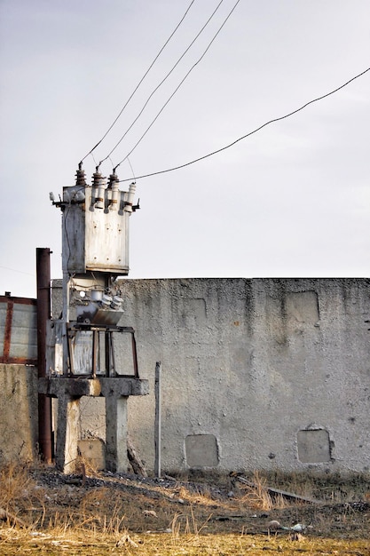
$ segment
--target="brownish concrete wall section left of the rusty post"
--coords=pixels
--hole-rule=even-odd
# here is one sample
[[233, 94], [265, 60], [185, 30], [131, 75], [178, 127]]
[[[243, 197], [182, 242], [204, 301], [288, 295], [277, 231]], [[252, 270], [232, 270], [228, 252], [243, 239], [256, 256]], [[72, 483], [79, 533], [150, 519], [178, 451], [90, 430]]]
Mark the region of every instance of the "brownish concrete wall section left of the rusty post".
[[32, 460], [38, 434], [37, 369], [0, 364], [0, 464]]

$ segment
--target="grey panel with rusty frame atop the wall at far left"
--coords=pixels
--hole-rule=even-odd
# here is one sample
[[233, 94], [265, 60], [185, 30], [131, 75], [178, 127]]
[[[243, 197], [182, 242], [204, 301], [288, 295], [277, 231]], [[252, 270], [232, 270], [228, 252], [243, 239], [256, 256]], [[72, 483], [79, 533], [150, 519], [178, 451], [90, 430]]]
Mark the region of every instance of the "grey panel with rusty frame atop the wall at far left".
[[0, 296], [0, 362], [37, 362], [37, 301]]

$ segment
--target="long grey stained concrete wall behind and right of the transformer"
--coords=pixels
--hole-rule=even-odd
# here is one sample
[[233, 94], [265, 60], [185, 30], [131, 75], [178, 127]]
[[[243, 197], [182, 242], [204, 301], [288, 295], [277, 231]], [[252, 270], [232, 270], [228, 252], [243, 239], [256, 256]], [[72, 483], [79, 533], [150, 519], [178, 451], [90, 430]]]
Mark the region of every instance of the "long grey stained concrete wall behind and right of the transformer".
[[[156, 361], [163, 469], [368, 469], [369, 280], [125, 280], [122, 287], [120, 324], [137, 331], [140, 377], [150, 381], [149, 396], [129, 401], [130, 435], [148, 469]], [[91, 428], [104, 430], [99, 403], [86, 399], [94, 415], [93, 425], [82, 423], [86, 438]]]

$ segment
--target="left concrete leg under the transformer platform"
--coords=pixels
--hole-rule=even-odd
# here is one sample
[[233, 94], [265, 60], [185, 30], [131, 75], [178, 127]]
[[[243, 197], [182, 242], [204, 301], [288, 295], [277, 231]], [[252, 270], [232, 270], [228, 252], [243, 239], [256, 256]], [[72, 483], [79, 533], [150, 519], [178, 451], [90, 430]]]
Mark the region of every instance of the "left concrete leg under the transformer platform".
[[62, 473], [74, 473], [78, 456], [80, 400], [67, 393], [58, 399], [58, 429], [55, 463]]

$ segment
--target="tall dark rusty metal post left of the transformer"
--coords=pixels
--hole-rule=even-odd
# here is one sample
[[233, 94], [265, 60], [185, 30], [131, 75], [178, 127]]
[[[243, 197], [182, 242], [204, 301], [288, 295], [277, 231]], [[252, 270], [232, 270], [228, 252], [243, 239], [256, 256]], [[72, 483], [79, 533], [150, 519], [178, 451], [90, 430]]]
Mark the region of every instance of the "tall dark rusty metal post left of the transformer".
[[[51, 275], [49, 248], [36, 249], [37, 278], [37, 369], [46, 377], [46, 323], [51, 316]], [[38, 443], [43, 461], [51, 464], [51, 398], [38, 394]]]

